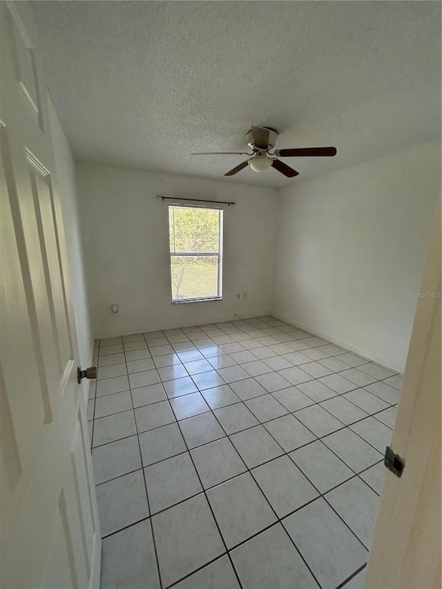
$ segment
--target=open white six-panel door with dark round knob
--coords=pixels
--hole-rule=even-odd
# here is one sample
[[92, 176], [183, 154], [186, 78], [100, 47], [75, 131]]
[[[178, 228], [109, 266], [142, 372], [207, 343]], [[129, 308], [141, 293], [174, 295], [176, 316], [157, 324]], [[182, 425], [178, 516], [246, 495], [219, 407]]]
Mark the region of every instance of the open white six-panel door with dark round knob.
[[64, 230], [26, 5], [0, 2], [0, 583], [98, 587], [101, 540]]

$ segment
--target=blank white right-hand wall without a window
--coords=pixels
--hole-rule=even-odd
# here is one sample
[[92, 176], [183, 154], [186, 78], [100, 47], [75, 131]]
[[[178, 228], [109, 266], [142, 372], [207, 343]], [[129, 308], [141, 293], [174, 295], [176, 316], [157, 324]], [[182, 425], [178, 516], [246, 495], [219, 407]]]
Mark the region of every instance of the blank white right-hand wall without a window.
[[278, 191], [273, 313], [403, 371], [440, 182], [430, 142]]

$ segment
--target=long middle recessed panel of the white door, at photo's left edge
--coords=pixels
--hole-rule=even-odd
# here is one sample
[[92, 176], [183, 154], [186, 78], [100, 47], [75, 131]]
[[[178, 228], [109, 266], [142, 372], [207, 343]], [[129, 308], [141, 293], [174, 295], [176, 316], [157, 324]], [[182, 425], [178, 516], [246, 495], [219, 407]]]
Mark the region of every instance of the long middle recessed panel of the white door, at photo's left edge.
[[[35, 461], [33, 453], [41, 443], [46, 423], [52, 421], [52, 410], [41, 366], [37, 310], [7, 134], [8, 128], [1, 127], [0, 358], [19, 461], [26, 465]], [[28, 391], [26, 397], [24, 391]], [[26, 411], [28, 404], [32, 412]]]

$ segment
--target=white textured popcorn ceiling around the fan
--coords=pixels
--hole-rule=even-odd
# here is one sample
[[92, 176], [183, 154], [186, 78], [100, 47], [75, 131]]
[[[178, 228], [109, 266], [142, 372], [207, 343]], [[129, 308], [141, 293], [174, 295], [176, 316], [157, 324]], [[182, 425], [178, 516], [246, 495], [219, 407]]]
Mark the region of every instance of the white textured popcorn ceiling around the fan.
[[[50, 95], [78, 160], [287, 186], [441, 135], [441, 3], [34, 1]], [[223, 174], [251, 124], [278, 148]]]

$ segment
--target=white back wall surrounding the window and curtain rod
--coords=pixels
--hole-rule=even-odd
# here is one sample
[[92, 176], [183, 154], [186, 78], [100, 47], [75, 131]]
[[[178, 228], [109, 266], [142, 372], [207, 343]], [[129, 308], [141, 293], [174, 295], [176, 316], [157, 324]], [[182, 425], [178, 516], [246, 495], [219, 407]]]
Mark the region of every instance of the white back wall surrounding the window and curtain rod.
[[[86, 163], [77, 164], [77, 185], [95, 337], [271, 311], [273, 189]], [[159, 194], [237, 202], [224, 207], [223, 300], [171, 305], [167, 204]], [[244, 292], [247, 300], [237, 301]]]

